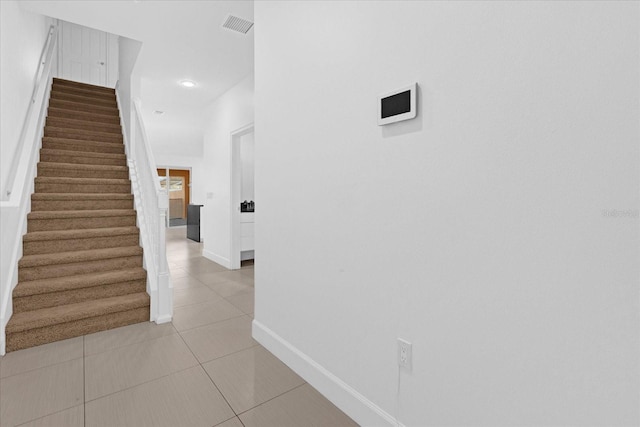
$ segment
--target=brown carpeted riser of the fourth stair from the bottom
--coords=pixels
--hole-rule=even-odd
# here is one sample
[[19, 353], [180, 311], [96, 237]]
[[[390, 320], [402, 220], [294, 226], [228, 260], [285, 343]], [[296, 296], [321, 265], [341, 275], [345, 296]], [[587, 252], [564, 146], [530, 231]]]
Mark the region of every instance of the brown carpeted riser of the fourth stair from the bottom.
[[123, 248], [140, 244], [138, 234], [94, 237], [91, 239], [44, 240], [24, 242], [23, 255], [54, 254], [59, 252], [84, 251], [91, 249]]

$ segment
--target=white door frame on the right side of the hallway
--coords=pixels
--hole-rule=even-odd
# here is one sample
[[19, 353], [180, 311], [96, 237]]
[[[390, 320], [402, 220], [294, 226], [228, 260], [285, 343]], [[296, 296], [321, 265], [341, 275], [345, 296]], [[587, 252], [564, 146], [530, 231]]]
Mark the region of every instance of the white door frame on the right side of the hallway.
[[229, 189], [229, 261], [232, 270], [240, 268], [240, 186], [242, 180], [242, 161], [240, 158], [240, 138], [254, 131], [253, 122], [231, 132], [231, 186]]

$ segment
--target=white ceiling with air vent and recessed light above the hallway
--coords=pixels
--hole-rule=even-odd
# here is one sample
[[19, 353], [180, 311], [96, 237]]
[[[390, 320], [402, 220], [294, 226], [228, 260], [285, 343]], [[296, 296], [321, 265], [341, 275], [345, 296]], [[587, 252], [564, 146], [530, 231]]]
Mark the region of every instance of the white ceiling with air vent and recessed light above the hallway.
[[[229, 14], [253, 21], [253, 1], [21, 1], [23, 9], [143, 43], [137, 67], [154, 151], [202, 154], [203, 111], [253, 72], [253, 29], [222, 28]], [[193, 80], [192, 89], [178, 84]], [[153, 114], [153, 111], [164, 114]]]

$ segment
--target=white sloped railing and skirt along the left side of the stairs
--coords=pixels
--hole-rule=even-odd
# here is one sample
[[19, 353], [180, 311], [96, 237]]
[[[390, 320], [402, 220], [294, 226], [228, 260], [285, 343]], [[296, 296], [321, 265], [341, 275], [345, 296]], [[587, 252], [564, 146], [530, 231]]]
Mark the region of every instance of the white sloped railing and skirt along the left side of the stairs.
[[58, 60], [58, 27], [51, 25], [42, 48], [34, 87], [22, 124], [5, 187], [0, 194], [0, 355], [5, 354], [5, 327], [11, 315], [12, 292], [18, 283], [22, 236], [27, 232], [36, 165], [42, 146], [51, 85]]

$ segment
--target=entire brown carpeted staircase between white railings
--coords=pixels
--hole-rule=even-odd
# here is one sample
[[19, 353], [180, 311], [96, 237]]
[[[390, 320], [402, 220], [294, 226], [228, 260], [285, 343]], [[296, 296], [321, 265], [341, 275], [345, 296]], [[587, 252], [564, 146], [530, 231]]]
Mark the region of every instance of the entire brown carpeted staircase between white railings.
[[54, 79], [7, 351], [149, 321], [113, 89]]

